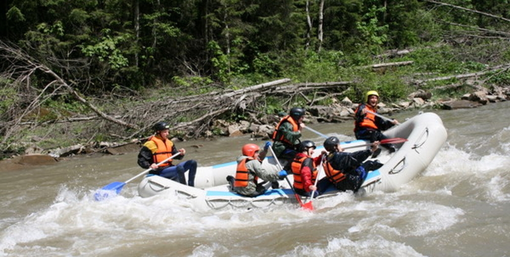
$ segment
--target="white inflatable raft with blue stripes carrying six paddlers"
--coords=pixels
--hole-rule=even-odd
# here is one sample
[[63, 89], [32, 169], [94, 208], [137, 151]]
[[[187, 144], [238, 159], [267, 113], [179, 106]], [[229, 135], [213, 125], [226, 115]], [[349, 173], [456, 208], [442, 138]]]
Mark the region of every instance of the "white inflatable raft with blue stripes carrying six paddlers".
[[[447, 133], [443, 122], [435, 113], [421, 113], [404, 123], [384, 132], [388, 137], [406, 138], [407, 141], [397, 144], [397, 151], [388, 153], [385, 148], [377, 159], [384, 163], [377, 170], [369, 172], [362, 185], [366, 192], [375, 190], [396, 191], [398, 188], [417, 177], [429, 165], [446, 141]], [[367, 141], [353, 140], [342, 142], [341, 147], [354, 152], [367, 149]], [[320, 154], [322, 146], [315, 151]], [[266, 157], [263, 165], [275, 165], [272, 157]], [[149, 175], [138, 185], [138, 193], [142, 197], [164, 193], [166, 196], [186, 199], [198, 209], [222, 209], [227, 207], [252, 208], [272, 205], [296, 204], [296, 198], [287, 182], [281, 181], [281, 188], [271, 189], [257, 197], [246, 197], [230, 191], [226, 176], [235, 176], [237, 163], [227, 162], [208, 167], [198, 167], [195, 186], [189, 187], [160, 176]], [[324, 173], [322, 173], [324, 176]], [[292, 176], [288, 177], [292, 179]], [[270, 183], [268, 183], [270, 184]], [[318, 196], [321, 198], [338, 194], [339, 191], [328, 190]]]

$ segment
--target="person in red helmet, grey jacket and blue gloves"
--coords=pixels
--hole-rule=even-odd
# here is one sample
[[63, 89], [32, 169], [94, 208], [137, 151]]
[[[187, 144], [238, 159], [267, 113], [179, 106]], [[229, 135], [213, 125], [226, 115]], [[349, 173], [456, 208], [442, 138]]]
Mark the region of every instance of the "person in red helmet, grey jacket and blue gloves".
[[259, 184], [258, 179], [275, 182], [282, 180], [287, 176], [285, 170], [279, 172], [268, 172], [262, 166], [262, 160], [259, 159], [259, 146], [255, 144], [246, 144], [242, 148], [242, 156], [237, 158], [236, 177], [227, 177], [234, 192], [254, 197], [266, 192], [267, 188]]

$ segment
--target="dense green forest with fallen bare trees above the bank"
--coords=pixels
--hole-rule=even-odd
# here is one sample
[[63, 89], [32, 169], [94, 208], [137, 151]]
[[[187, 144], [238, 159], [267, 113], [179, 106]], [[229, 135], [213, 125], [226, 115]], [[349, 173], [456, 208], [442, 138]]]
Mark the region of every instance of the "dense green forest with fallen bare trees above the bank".
[[[130, 140], [161, 119], [199, 137], [370, 89], [505, 88], [509, 28], [507, 0], [4, 0], [0, 149]], [[338, 87], [229, 93], [286, 78]]]

